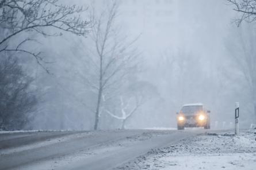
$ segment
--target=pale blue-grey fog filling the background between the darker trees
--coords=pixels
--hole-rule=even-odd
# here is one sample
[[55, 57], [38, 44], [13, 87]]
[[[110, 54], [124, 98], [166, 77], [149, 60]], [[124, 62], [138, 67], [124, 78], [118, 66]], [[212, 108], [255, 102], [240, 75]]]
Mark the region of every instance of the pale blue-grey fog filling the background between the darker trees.
[[[112, 4], [60, 2], [87, 7], [82, 13], [87, 21]], [[239, 16], [234, 6], [221, 0], [123, 0], [117, 4], [112, 32], [117, 38], [109, 44], [132, 42], [127, 51], [132, 53], [132, 66], [103, 92], [97, 129], [177, 127], [176, 113], [187, 103], [203, 103], [211, 110], [212, 128], [234, 126], [235, 102], [240, 103], [240, 126], [255, 123], [255, 91], [251, 91], [255, 84], [247, 77], [254, 69], [245, 70], [242, 60], [246, 53], [256, 52], [255, 25], [243, 22], [238, 27], [232, 22]], [[20, 57], [22, 68], [35, 78], [31, 88], [39, 99], [25, 129], [94, 129], [98, 59], [93, 57], [97, 49], [91, 28], [95, 25], [88, 26], [86, 37], [27, 32], [12, 39], [10, 43], [15, 44], [22, 37], [35, 38], [40, 43], [30, 42], [26, 48], [42, 51], [47, 61], [42, 67], [33, 57]], [[56, 32], [55, 28], [45, 30]]]

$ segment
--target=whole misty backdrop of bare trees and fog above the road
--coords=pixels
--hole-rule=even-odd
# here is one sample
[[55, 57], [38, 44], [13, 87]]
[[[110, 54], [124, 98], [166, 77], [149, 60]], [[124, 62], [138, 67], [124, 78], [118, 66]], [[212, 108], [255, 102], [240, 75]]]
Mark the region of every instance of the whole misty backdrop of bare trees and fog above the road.
[[[1, 70], [13, 65], [0, 73], [1, 100], [5, 87], [22, 88], [15, 103], [27, 103], [18, 113], [2, 101], [0, 128], [176, 127], [181, 106], [198, 102], [211, 110], [213, 128], [229, 128], [240, 102], [248, 127], [256, 120], [254, 7], [0, 0]], [[3, 125], [3, 115], [20, 116]]]

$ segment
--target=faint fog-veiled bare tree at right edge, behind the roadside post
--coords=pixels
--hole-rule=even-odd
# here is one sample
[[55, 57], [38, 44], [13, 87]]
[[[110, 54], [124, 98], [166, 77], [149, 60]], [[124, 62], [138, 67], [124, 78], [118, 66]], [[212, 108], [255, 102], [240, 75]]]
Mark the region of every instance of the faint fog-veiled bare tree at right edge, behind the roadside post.
[[[242, 73], [243, 83], [248, 90], [249, 101], [253, 105], [256, 118], [256, 33], [253, 25], [244, 25], [235, 30], [235, 36], [228, 41], [227, 49], [231, 53], [231, 59]], [[229, 76], [231, 77], [231, 76]], [[237, 81], [237, 76], [234, 81]], [[245, 94], [245, 92], [244, 92]]]

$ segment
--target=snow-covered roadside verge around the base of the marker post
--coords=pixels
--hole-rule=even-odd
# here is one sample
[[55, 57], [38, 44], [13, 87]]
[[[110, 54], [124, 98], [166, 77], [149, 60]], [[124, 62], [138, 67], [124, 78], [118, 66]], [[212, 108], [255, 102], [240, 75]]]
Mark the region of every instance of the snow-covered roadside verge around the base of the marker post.
[[256, 169], [256, 130], [205, 133], [153, 149], [116, 169]]

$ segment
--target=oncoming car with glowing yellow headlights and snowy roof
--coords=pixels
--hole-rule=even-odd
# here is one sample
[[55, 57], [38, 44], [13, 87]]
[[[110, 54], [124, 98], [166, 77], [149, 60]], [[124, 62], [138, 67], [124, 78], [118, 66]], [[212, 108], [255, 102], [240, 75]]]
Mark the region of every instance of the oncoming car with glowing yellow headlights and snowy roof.
[[211, 111], [206, 110], [202, 103], [183, 105], [177, 113], [177, 129], [184, 130], [184, 127], [204, 127], [210, 129]]

